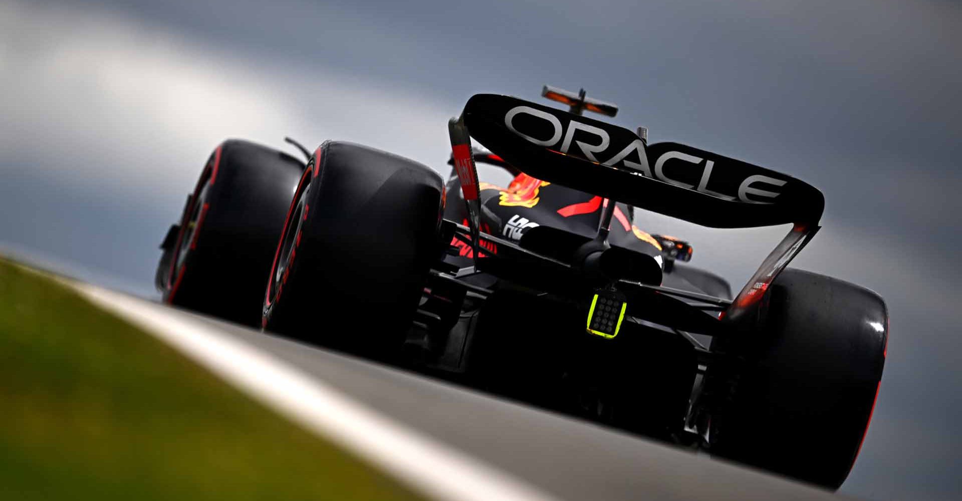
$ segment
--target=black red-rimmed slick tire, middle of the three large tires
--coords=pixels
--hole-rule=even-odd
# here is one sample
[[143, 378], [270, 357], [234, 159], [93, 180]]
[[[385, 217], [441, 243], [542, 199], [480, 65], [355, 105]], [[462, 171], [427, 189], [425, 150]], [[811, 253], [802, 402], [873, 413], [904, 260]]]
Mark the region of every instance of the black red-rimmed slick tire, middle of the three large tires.
[[267, 331], [392, 359], [439, 248], [441, 176], [348, 142], [317, 148], [294, 191], [264, 299]]

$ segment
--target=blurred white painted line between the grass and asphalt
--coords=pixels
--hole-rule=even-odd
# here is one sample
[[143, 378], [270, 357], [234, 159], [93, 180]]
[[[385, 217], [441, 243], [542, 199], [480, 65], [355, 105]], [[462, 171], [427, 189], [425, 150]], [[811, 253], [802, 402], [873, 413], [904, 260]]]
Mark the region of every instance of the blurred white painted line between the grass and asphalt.
[[71, 285], [91, 302], [161, 338], [276, 412], [428, 497], [440, 501], [557, 501], [202, 322], [103, 288]]

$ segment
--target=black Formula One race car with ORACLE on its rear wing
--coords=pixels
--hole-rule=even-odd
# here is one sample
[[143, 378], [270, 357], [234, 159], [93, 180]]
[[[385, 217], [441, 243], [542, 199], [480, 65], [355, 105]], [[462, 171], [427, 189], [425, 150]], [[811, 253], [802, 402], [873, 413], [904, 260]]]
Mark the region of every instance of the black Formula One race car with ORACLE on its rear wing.
[[[448, 124], [446, 184], [359, 144], [291, 141], [302, 163], [223, 142], [162, 245], [164, 301], [838, 488], [888, 313], [870, 290], [786, 268], [822, 193], [582, 116], [618, 111], [583, 90], [544, 96], [570, 111], [471, 97]], [[482, 183], [477, 163], [514, 181]], [[792, 227], [732, 297], [636, 211]]]

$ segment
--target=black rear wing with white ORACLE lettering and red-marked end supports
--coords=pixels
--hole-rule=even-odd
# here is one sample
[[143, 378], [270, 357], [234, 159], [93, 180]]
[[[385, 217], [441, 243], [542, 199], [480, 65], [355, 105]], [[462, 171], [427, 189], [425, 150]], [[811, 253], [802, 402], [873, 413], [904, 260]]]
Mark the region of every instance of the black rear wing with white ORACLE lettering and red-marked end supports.
[[515, 97], [472, 96], [449, 132], [475, 244], [480, 208], [470, 138], [536, 178], [702, 226], [793, 223], [725, 312], [729, 319], [764, 295], [822, 218], [822, 192], [792, 176], [675, 142], [648, 145], [627, 129]]

